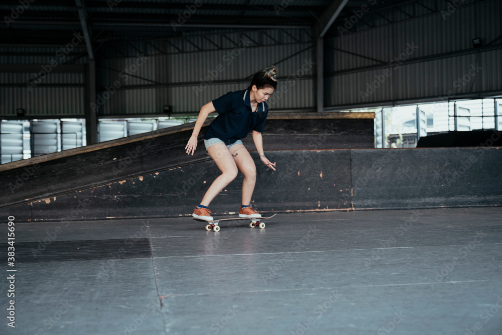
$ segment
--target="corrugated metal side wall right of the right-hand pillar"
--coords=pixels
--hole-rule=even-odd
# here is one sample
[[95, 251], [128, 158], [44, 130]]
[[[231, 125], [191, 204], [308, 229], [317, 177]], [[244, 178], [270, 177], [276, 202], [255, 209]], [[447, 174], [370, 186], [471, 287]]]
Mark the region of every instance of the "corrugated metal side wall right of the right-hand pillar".
[[[327, 40], [325, 106], [386, 105], [502, 91], [500, 17], [501, 2], [484, 1]], [[491, 49], [474, 49], [474, 38], [481, 38], [483, 46], [493, 41]], [[402, 64], [396, 62], [400, 55]]]

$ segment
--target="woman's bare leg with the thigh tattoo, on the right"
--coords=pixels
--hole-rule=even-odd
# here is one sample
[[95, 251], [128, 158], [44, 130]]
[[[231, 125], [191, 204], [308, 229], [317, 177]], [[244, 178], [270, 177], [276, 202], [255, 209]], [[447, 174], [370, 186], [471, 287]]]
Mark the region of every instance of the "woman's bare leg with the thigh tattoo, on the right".
[[250, 205], [256, 184], [255, 161], [242, 144], [231, 146], [230, 153], [237, 168], [244, 175], [244, 180], [242, 181], [242, 204]]

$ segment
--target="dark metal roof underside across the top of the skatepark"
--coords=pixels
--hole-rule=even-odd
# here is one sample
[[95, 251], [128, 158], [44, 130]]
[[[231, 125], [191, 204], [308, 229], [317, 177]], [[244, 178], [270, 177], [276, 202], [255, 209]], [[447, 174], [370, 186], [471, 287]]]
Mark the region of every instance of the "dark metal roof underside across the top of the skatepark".
[[[466, 0], [470, 2], [474, 0]], [[333, 2], [339, 3], [339, 0]], [[194, 31], [211, 33], [218, 29], [283, 29], [315, 26], [330, 6], [330, 0], [47, 0], [26, 2], [3, 0], [0, 45], [61, 44], [82, 31], [79, 14], [93, 43], [182, 37]], [[432, 0], [350, 0], [338, 22], [365, 10], [363, 19], [351, 31], [409, 18], [438, 10]], [[26, 8], [25, 8], [26, 7]], [[413, 7], [413, 8], [412, 8]], [[414, 9], [416, 7], [417, 9]], [[340, 21], [341, 20], [341, 21]], [[336, 21], [335, 21], [336, 23]], [[331, 29], [331, 35], [337, 31]]]

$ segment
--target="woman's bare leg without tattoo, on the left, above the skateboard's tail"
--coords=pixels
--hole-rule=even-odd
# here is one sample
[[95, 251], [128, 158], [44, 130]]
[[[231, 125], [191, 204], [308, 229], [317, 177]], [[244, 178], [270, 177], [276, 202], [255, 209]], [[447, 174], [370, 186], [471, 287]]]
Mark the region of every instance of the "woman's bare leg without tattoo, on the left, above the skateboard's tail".
[[216, 195], [218, 195], [218, 193], [221, 192], [226, 185], [234, 180], [239, 172], [230, 151], [223, 143], [213, 144], [207, 148], [207, 153], [214, 160], [220, 169], [221, 174], [214, 179], [211, 186], [209, 186], [209, 189], [206, 191], [206, 194], [204, 194], [204, 197], [200, 202], [200, 204], [204, 206], [209, 206], [209, 203], [211, 203]]

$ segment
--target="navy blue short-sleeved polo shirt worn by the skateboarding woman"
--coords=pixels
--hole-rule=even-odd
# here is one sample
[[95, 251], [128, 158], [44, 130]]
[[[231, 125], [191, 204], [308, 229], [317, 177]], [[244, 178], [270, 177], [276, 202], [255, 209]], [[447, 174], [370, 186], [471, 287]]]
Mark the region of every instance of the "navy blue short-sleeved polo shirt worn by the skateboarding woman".
[[205, 140], [218, 138], [228, 145], [246, 137], [252, 130], [263, 133], [269, 107], [263, 101], [257, 111], [251, 111], [247, 90], [228, 92], [212, 102], [218, 116], [207, 128]]

